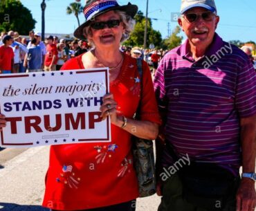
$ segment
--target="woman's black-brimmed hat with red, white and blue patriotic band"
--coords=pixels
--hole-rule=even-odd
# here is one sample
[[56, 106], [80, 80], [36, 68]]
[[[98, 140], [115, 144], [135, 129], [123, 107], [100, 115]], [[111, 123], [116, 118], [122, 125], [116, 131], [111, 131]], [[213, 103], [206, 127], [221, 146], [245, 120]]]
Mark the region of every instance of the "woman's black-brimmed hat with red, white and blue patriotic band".
[[138, 11], [138, 6], [128, 3], [125, 6], [120, 6], [116, 0], [89, 0], [86, 1], [84, 6], [84, 17], [85, 22], [79, 26], [75, 32], [75, 37], [79, 39], [84, 39], [83, 29], [85, 26], [89, 26], [91, 21], [98, 15], [102, 15], [104, 12], [109, 12], [110, 10], [120, 10], [125, 12], [132, 18], [136, 15]]

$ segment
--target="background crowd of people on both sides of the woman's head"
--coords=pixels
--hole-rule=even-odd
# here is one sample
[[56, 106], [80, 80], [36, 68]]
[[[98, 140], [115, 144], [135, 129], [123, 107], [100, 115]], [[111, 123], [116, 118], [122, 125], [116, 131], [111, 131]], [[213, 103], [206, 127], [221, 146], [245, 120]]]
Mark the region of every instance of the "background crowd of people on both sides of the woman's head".
[[[0, 36], [0, 73], [26, 73], [38, 71], [59, 71], [64, 62], [77, 57], [92, 46], [82, 39], [73, 41], [58, 39], [49, 35], [41, 40], [41, 33], [30, 31], [29, 39], [21, 37], [18, 32], [10, 30]], [[12, 50], [12, 52], [11, 52]], [[120, 46], [120, 51], [131, 57], [144, 59], [155, 73], [158, 62], [167, 51], [163, 49], [143, 49], [135, 46]]]

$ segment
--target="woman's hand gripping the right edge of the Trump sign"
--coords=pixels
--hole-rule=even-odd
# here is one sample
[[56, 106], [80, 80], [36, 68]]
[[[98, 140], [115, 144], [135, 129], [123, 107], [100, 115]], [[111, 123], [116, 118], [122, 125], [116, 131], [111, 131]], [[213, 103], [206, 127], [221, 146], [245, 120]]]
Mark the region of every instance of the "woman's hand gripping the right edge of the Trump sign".
[[118, 111], [116, 110], [117, 103], [113, 99], [113, 94], [109, 93], [107, 95], [104, 95], [103, 97], [103, 103], [100, 107], [101, 118], [102, 120], [105, 120], [107, 116], [110, 116], [111, 123], [116, 125], [118, 122]]

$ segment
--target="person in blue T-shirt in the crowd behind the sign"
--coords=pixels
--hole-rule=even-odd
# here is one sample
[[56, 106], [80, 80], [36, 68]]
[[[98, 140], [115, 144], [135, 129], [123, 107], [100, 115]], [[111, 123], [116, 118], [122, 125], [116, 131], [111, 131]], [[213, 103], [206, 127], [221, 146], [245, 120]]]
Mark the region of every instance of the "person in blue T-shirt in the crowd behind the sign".
[[28, 68], [28, 73], [42, 71], [42, 49], [37, 43], [37, 38], [34, 37], [24, 59], [24, 67]]

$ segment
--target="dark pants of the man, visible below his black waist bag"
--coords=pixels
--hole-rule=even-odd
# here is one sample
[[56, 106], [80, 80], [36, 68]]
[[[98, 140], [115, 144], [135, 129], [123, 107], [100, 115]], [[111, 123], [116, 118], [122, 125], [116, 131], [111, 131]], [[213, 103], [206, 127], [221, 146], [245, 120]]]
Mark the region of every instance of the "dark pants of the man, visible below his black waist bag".
[[[236, 210], [236, 192], [230, 193], [226, 205], [221, 211], [235, 211]], [[203, 200], [203, 199], [202, 199]], [[217, 206], [219, 204], [216, 204]], [[168, 178], [163, 185], [163, 197], [158, 211], [208, 211], [204, 208], [196, 207], [192, 203], [188, 203], [183, 198], [183, 186], [178, 174], [174, 174]]]

